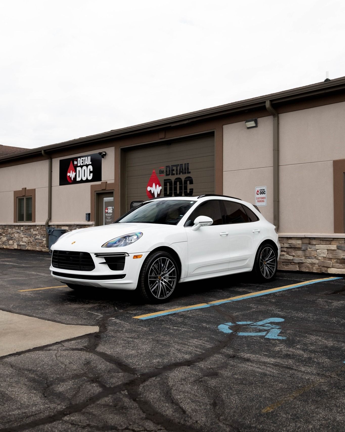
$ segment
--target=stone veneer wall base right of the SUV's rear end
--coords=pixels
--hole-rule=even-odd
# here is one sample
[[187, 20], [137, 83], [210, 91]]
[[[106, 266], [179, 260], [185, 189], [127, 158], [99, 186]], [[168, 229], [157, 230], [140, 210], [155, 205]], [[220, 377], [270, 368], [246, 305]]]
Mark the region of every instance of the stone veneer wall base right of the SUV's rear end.
[[279, 235], [279, 270], [345, 274], [345, 235], [296, 237]]

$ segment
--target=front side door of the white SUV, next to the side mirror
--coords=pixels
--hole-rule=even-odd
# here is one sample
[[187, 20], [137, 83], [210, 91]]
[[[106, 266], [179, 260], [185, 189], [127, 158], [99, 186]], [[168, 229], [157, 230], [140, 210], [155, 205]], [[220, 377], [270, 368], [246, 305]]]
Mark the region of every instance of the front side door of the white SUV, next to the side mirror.
[[[213, 224], [192, 231], [198, 216], [212, 218]], [[219, 273], [229, 269], [229, 232], [223, 225], [219, 200], [201, 203], [185, 223], [188, 240], [188, 276]]]

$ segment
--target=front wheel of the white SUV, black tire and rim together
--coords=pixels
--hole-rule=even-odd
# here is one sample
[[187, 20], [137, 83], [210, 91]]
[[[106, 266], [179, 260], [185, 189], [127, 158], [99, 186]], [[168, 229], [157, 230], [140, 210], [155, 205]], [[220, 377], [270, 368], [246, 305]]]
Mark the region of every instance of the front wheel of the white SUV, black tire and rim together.
[[173, 295], [178, 280], [176, 260], [168, 252], [153, 252], [141, 267], [136, 292], [146, 302], [165, 303]]

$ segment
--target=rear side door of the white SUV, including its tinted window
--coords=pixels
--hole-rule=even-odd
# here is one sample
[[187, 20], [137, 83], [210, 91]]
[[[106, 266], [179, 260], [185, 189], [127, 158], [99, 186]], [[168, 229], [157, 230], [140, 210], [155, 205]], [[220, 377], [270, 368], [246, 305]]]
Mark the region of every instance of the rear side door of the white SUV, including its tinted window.
[[229, 232], [229, 270], [253, 267], [262, 238], [259, 218], [247, 206], [223, 200], [226, 231]]

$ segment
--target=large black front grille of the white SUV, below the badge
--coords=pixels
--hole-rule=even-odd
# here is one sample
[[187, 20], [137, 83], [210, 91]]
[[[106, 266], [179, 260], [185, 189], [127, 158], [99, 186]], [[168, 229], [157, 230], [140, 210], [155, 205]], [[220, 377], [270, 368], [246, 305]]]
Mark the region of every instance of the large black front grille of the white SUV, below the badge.
[[51, 265], [63, 270], [94, 270], [94, 260], [88, 252], [53, 251]]

